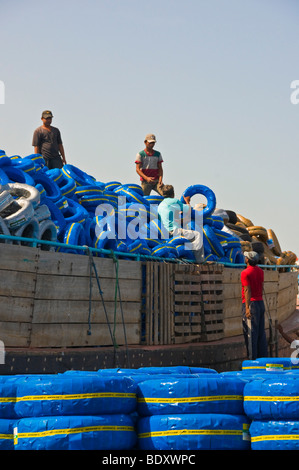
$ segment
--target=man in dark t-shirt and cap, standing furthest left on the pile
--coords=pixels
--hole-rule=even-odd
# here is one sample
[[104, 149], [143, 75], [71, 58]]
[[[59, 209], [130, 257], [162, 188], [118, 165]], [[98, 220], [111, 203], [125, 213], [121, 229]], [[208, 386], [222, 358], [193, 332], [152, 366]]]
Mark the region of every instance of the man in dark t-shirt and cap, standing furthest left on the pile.
[[52, 118], [51, 111], [43, 111], [41, 117], [43, 124], [34, 131], [32, 140], [34, 153], [43, 156], [49, 169], [62, 168], [66, 164], [60, 131], [57, 127], [51, 126]]

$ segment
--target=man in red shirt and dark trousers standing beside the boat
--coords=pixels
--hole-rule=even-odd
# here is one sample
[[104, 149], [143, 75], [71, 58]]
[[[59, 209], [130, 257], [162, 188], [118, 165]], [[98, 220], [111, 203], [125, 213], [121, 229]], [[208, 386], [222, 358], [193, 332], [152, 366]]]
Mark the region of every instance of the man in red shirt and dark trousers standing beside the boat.
[[242, 321], [248, 357], [267, 357], [265, 305], [263, 300], [264, 271], [257, 266], [259, 254], [244, 252], [246, 268], [241, 273]]

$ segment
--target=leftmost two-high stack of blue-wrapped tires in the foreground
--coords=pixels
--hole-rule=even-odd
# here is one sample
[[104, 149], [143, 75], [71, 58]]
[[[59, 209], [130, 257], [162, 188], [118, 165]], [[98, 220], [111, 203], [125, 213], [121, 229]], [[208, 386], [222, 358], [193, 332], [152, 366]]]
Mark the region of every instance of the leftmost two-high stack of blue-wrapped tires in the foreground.
[[0, 378], [0, 449], [130, 450], [136, 384], [98, 374]]

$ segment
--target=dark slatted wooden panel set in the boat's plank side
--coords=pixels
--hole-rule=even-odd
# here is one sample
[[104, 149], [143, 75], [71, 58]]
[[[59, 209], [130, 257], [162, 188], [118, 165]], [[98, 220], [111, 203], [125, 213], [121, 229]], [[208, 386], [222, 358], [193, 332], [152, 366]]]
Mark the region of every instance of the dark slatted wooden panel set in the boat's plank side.
[[222, 267], [145, 264], [145, 344], [223, 337]]

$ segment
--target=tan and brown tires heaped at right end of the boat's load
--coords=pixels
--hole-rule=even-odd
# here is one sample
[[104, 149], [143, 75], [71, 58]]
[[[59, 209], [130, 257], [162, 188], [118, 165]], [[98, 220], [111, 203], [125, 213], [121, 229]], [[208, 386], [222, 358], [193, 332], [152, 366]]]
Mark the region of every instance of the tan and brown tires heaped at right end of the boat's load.
[[254, 225], [254, 223], [234, 212], [233, 210], [220, 210], [224, 230], [239, 238], [242, 251], [256, 251], [260, 255], [260, 263], [265, 265], [294, 265], [297, 255], [292, 251], [282, 251], [279, 240], [273, 229]]

